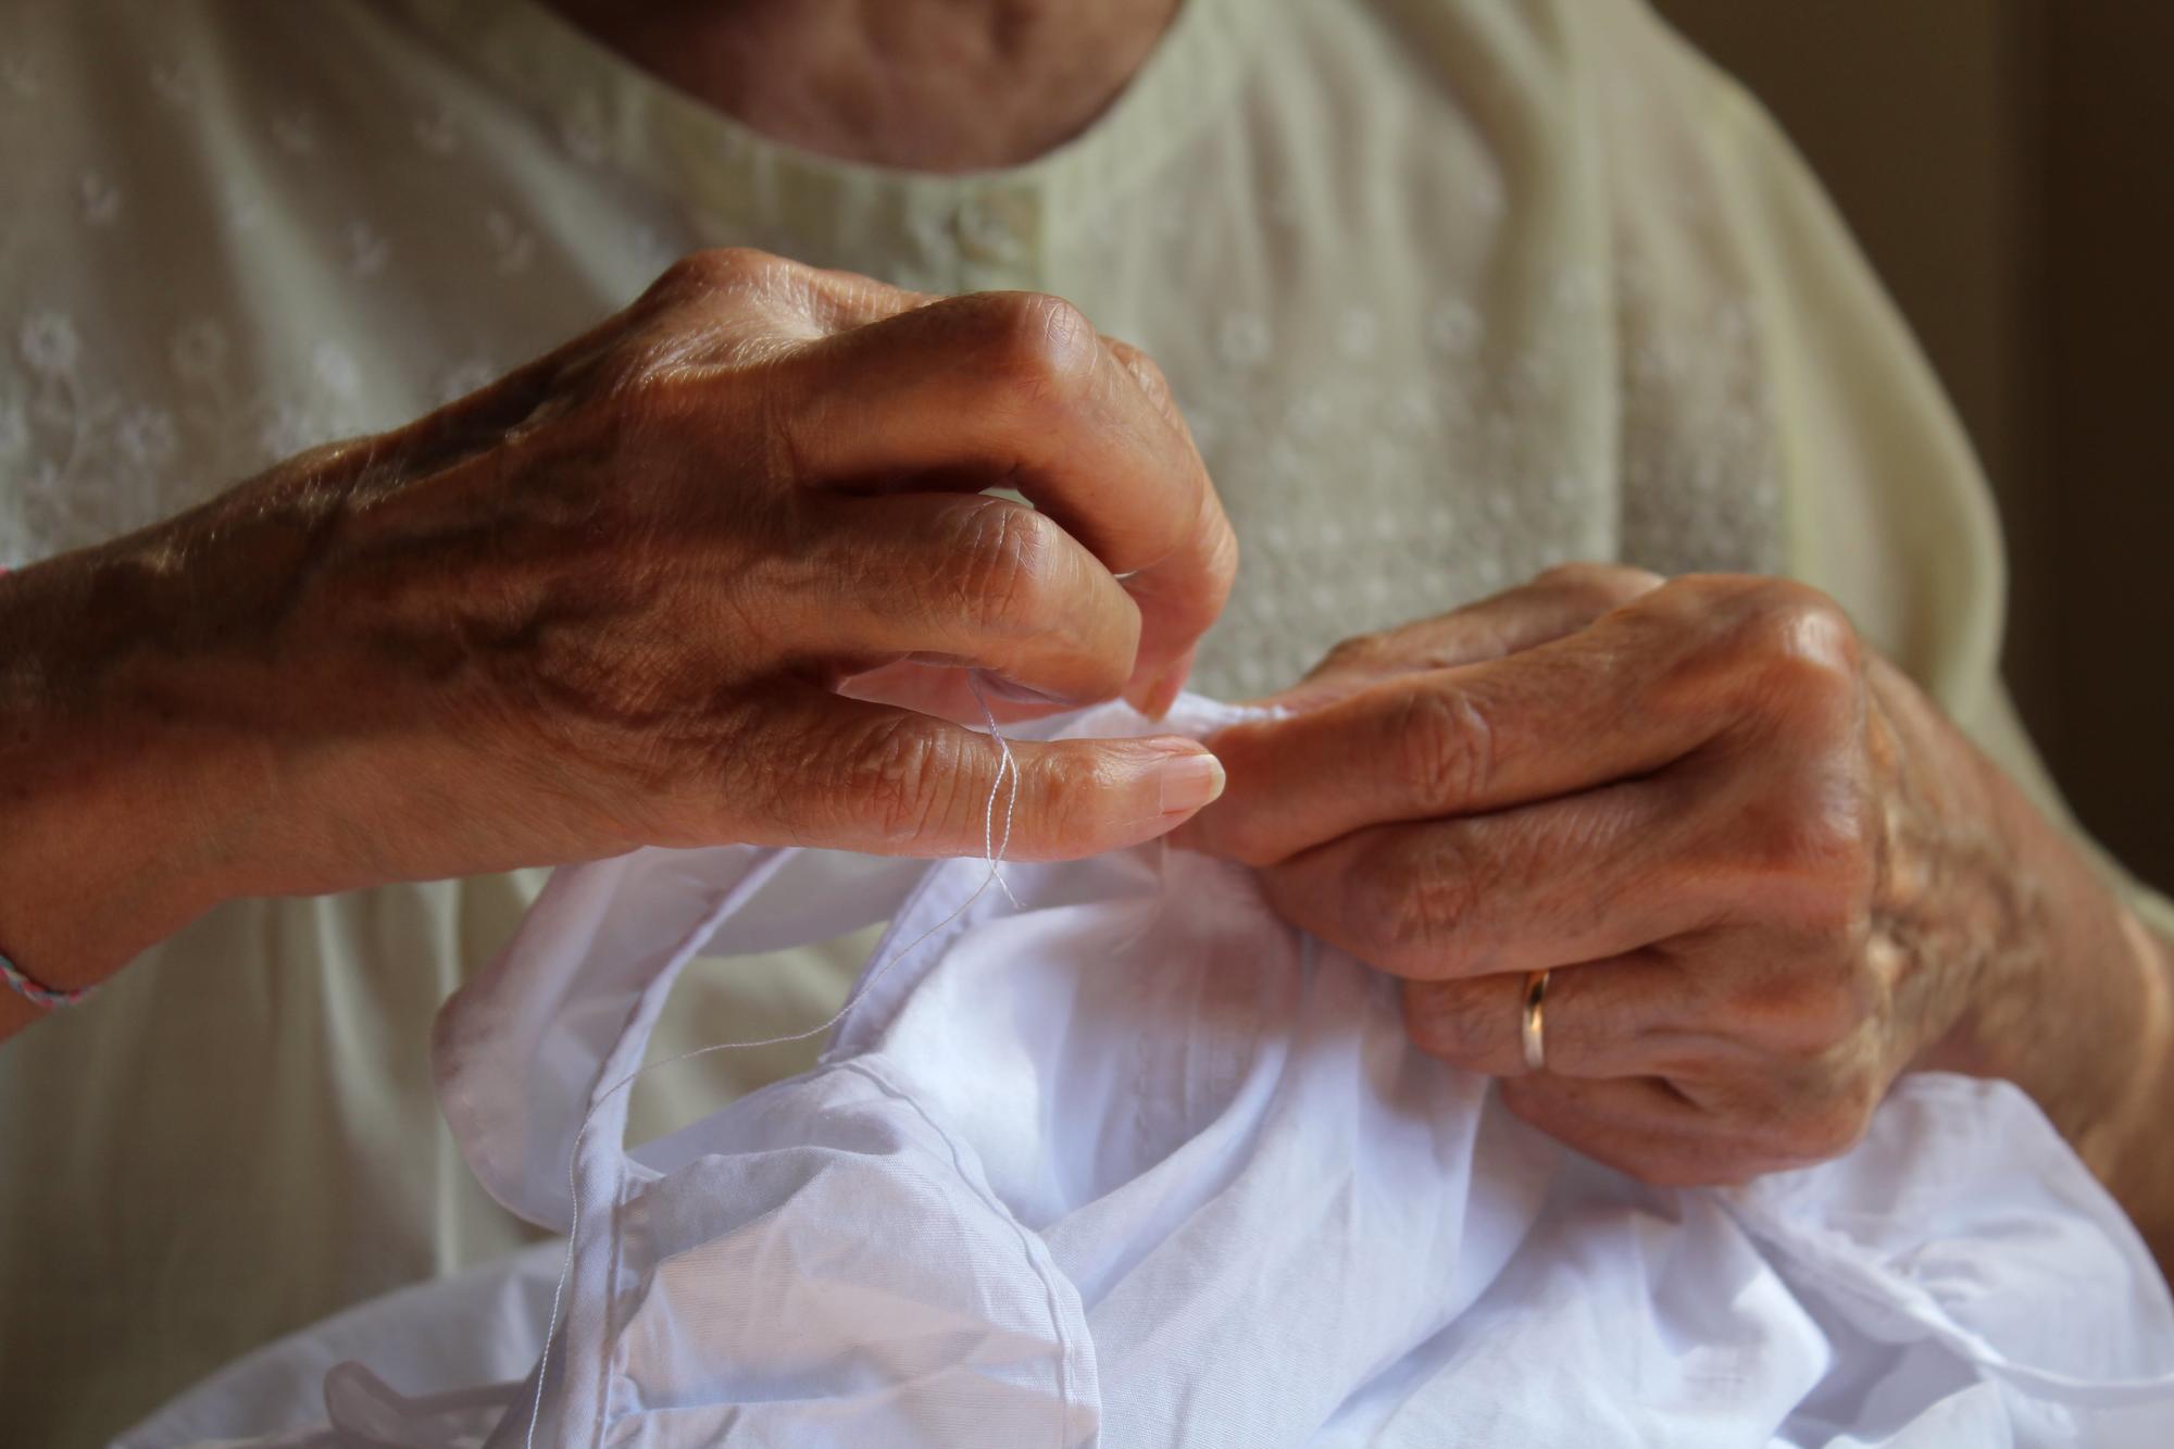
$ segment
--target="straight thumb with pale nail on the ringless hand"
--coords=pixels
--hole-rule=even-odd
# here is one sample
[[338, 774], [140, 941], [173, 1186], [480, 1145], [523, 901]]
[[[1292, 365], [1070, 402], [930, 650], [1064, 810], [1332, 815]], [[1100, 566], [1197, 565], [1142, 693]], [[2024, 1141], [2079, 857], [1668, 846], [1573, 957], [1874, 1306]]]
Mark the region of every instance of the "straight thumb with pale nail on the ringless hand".
[[[983, 855], [994, 835], [1007, 859], [1078, 859], [1163, 835], [1224, 785], [1215, 755], [1183, 735], [998, 742], [837, 694], [798, 701], [761, 733], [772, 759], [807, 761], [772, 777], [778, 833], [870, 855]], [[1007, 748], [1017, 779], [1000, 788]]]

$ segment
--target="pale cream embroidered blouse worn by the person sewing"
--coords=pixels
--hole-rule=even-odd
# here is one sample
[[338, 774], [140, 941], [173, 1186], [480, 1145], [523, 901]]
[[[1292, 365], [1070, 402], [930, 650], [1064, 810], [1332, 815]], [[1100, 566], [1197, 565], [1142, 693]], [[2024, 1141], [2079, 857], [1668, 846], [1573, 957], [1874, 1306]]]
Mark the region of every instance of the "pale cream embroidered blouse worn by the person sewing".
[[[685, 250], [761, 246], [1054, 292], [1146, 348], [1244, 555], [1211, 694], [1563, 559], [1778, 572], [2065, 822], [1937, 381], [1772, 122], [1637, 0], [1185, 0], [1080, 137], [972, 176], [780, 146], [539, 0], [0, 0], [0, 564], [402, 424]], [[539, 883], [228, 901], [0, 1049], [13, 1438], [102, 1442], [524, 1242], [424, 1040]], [[861, 957], [698, 973], [661, 1031], [820, 1020]], [[809, 1060], [707, 1057], [637, 1120]]]

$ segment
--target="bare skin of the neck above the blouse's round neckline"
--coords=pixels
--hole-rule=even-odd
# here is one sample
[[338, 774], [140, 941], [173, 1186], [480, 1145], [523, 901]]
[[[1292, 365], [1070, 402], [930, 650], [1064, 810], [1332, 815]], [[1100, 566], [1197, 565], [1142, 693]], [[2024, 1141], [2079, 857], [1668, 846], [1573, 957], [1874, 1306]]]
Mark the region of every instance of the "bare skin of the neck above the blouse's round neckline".
[[922, 172], [1017, 165], [1109, 109], [1178, 0], [548, 0], [763, 135]]

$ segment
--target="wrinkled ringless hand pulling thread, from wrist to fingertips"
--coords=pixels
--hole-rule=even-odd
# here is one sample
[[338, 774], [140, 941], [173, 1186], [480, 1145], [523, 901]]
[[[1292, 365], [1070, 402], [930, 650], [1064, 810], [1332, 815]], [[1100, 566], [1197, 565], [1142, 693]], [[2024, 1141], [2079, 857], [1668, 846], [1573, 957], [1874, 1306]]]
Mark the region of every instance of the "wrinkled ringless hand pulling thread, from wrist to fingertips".
[[[441, 740], [385, 790], [465, 735], [433, 794], [517, 835], [400, 875], [646, 842], [980, 851], [1000, 757], [937, 718], [976, 716], [957, 666], [1161, 709], [1235, 561], [1154, 366], [1072, 307], [754, 252], [687, 259], [370, 453], [296, 622], [376, 644], [357, 690], [430, 696]], [[1174, 740], [1013, 753], [1020, 855], [1204, 798], [1165, 788], [1202, 772]]]

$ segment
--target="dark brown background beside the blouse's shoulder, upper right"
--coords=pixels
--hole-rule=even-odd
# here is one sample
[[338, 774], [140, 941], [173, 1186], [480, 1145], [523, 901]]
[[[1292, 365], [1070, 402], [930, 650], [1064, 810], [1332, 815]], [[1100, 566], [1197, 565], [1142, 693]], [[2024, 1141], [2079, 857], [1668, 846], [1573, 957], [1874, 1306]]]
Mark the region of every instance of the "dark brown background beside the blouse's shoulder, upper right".
[[1757, 91], [1939, 368], [2009, 535], [2009, 683], [2174, 886], [2174, 4], [1657, 0]]

